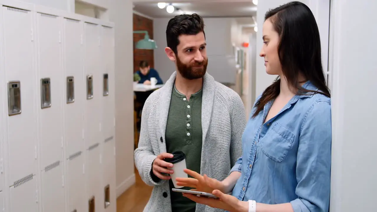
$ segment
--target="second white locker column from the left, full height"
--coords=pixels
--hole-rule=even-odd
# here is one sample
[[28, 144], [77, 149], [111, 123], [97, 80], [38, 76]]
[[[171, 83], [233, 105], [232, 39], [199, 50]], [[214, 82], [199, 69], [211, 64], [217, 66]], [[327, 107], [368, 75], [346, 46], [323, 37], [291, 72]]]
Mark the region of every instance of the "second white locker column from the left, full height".
[[61, 19], [37, 13], [42, 211], [64, 212]]

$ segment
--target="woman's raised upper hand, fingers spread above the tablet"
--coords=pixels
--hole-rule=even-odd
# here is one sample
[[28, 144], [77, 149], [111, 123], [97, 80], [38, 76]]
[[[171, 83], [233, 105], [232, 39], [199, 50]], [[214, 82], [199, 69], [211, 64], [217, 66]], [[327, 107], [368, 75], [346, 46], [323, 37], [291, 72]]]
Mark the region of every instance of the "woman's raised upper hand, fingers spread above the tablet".
[[176, 178], [178, 186], [192, 187], [195, 190], [212, 193], [213, 190], [217, 189], [221, 192], [227, 193], [225, 191], [227, 186], [222, 182], [213, 178], [209, 178], [207, 175], [200, 175], [198, 172], [194, 172], [190, 169], [184, 169], [184, 172], [193, 178]]

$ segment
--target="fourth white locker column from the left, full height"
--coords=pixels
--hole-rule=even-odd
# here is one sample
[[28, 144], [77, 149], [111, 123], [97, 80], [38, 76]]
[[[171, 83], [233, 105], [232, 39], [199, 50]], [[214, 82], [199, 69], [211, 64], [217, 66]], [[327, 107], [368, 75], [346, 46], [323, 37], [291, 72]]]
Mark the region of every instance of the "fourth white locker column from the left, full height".
[[[84, 72], [86, 77], [86, 103], [84, 137], [86, 143], [87, 200], [94, 197], [95, 211], [103, 211], [101, 194], [101, 99], [102, 78], [99, 26], [84, 23]], [[89, 199], [88, 199], [89, 198]], [[89, 211], [91, 211], [89, 209]]]

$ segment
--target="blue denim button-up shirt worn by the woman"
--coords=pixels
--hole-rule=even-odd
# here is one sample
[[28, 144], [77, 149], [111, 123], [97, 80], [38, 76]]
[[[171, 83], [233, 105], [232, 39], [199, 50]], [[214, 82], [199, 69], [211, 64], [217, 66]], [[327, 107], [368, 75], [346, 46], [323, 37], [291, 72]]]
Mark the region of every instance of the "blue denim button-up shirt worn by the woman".
[[[303, 88], [316, 91], [309, 82]], [[232, 195], [257, 203], [291, 203], [294, 212], [327, 212], [330, 199], [331, 108], [321, 94], [296, 95], [263, 124], [273, 101], [242, 135], [241, 172]], [[253, 108], [251, 115], [254, 113]]]

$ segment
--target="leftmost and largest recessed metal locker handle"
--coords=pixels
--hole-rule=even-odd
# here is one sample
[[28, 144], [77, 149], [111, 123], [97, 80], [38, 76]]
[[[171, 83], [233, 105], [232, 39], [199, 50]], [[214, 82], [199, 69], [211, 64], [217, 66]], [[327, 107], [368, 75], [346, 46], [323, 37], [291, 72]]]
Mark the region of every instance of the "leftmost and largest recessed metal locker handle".
[[21, 82], [8, 82], [8, 115], [21, 113]]

